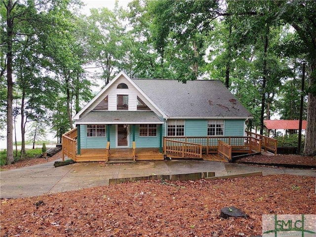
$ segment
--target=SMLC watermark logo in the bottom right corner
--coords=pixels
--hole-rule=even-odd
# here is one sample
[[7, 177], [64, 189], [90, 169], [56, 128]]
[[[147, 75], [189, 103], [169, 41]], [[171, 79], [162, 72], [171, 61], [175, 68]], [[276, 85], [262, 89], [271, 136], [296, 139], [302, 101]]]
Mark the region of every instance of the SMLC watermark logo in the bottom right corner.
[[262, 237], [316, 237], [316, 215], [263, 215]]

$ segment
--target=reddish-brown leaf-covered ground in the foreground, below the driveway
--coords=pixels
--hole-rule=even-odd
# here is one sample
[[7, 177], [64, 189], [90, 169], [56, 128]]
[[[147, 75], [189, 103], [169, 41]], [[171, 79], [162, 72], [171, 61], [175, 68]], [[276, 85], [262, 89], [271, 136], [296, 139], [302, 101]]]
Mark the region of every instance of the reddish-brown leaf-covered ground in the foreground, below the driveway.
[[[249, 215], [221, 219], [235, 206]], [[2, 199], [1, 236], [232, 237], [261, 235], [262, 214], [315, 214], [315, 177], [141, 181]]]

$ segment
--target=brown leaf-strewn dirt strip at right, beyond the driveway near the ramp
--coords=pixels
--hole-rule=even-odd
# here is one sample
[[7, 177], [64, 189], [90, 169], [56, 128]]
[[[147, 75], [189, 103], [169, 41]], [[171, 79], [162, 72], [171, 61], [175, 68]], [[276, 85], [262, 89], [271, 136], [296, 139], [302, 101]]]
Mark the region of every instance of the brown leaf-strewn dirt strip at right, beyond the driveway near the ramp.
[[249, 156], [238, 159], [238, 161], [256, 162], [265, 164], [294, 164], [316, 166], [316, 157], [303, 157], [298, 155], [276, 155], [276, 156]]

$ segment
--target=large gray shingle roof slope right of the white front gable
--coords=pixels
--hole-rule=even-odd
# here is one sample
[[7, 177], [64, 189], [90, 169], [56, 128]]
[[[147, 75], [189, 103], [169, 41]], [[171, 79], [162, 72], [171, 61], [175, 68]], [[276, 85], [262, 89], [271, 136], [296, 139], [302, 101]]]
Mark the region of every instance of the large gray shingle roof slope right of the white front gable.
[[252, 118], [220, 80], [133, 81], [169, 118]]

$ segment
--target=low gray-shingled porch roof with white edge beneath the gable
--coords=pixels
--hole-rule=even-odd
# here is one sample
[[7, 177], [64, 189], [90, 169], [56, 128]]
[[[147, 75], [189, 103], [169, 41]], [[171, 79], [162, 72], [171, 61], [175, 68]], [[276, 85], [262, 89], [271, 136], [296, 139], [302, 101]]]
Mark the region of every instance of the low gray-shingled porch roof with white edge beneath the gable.
[[90, 111], [75, 124], [162, 124], [152, 111]]

